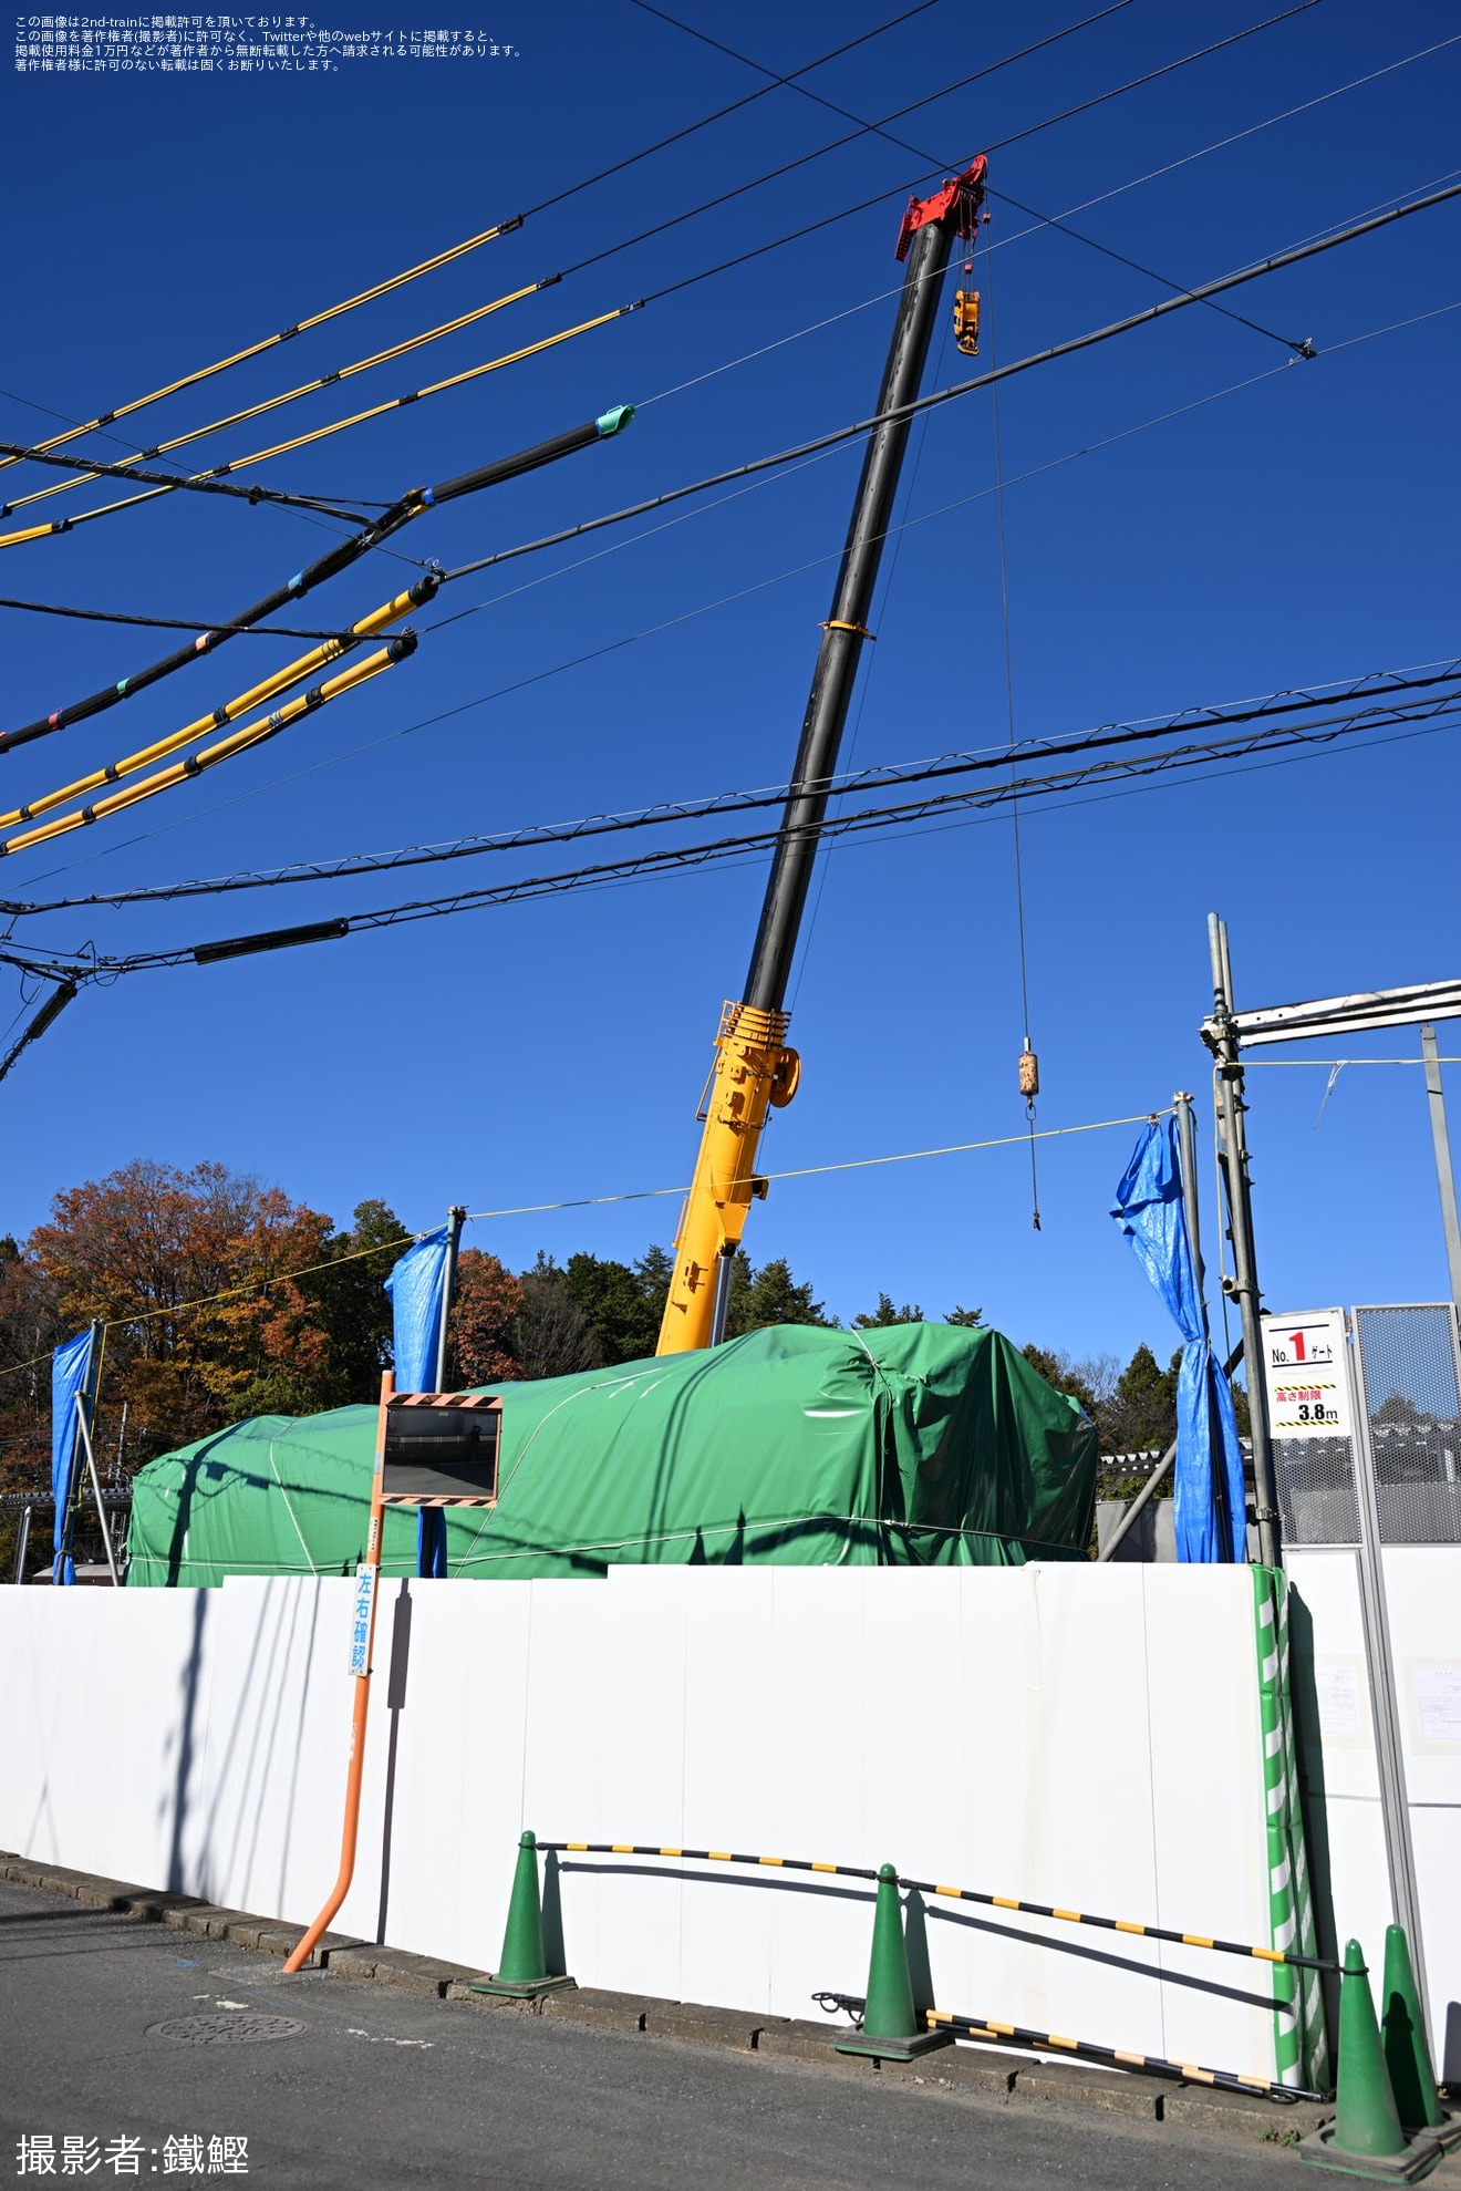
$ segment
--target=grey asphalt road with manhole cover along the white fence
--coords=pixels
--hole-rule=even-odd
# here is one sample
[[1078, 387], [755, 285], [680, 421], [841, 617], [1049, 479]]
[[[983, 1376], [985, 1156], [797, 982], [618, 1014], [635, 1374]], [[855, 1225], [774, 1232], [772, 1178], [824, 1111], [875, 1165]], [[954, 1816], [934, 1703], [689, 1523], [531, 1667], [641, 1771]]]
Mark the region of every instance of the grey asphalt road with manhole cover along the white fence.
[[[252, 2044], [149, 2035], [173, 2018], [239, 2014], [302, 2029]], [[4, 1882], [0, 2132], [0, 2178], [20, 2178], [22, 2138], [50, 2138], [57, 2182], [94, 2184], [129, 2180], [116, 2167], [125, 2138], [138, 2182], [221, 2184], [208, 2143], [245, 2138], [234, 2158], [248, 2182], [311, 2191], [1303, 2191], [1316, 2180], [1286, 2152], [1091, 2108], [881, 2090], [329, 1972], [285, 1978], [269, 1954]], [[81, 2141], [81, 2169], [64, 2167], [64, 2138]], [[223, 2156], [215, 2145], [212, 2160]]]

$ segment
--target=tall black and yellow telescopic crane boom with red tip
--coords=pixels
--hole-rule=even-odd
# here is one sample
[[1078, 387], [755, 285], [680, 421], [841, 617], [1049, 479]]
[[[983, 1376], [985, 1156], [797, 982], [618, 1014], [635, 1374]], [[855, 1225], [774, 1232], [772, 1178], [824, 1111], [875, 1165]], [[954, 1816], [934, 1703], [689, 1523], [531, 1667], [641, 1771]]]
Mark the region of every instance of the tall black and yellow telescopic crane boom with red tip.
[[[878, 414], [896, 412], [920, 392], [951, 241], [955, 234], [973, 237], [983, 204], [983, 175], [986, 160], [979, 153], [942, 191], [911, 199], [902, 215], [898, 259], [907, 261], [907, 272], [883, 368]], [[764, 1179], [756, 1177], [767, 1111], [789, 1104], [802, 1078], [802, 1060], [786, 1043], [786, 986], [848, 706], [863, 644], [872, 638], [867, 616], [909, 425], [909, 418], [889, 418], [872, 434], [863, 456], [745, 993], [721, 1012], [701, 1148], [675, 1236], [675, 1273], [657, 1354], [683, 1354], [714, 1345], [723, 1337], [732, 1258], [740, 1247], [751, 1201], [764, 1198], [767, 1192]]]

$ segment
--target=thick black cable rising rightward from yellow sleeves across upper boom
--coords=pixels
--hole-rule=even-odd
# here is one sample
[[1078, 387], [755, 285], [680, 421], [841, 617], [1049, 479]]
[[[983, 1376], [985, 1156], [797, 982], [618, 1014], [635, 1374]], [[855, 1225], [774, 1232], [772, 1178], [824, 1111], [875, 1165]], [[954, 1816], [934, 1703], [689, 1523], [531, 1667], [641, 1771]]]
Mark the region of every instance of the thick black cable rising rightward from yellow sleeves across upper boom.
[[1253, 265], [1238, 267], [1233, 274], [1222, 274], [1218, 280], [1200, 283], [1196, 289], [1185, 289], [1181, 296], [1161, 298], [1157, 305], [1146, 305], [1141, 311], [1132, 311], [1124, 320], [1111, 320], [1106, 326], [1095, 326], [1084, 335], [1071, 335], [1067, 342], [1054, 342], [1045, 351], [1032, 351], [1027, 357], [1016, 357], [1008, 366], [999, 366], [992, 372], [979, 372], [970, 381], [955, 381], [953, 388], [935, 388], [933, 394], [918, 397], [913, 403], [878, 412], [872, 418], [859, 418], [856, 425], [837, 427], [832, 434], [817, 434], [815, 440], [802, 440], [791, 449], [778, 449], [775, 456], [758, 456], [747, 464], [732, 464], [727, 471], [712, 471], [703, 480], [690, 480], [688, 486], [670, 486], [664, 495], [651, 495], [646, 502], [631, 502], [622, 511], [607, 511], [602, 517], [585, 517], [576, 526], [563, 526], [559, 532], [543, 532], [539, 539], [521, 541], [517, 548], [499, 548], [495, 554], [478, 557], [473, 563], [460, 563], [456, 570], [445, 572], [445, 576], [467, 578], [473, 572], [493, 570], [497, 563], [515, 563], [519, 557], [537, 554], [543, 548], [563, 548], [567, 541], [585, 539], [589, 532], [602, 532], [607, 526], [622, 526], [631, 517], [648, 517], [653, 511], [664, 511], [672, 502], [683, 502], [688, 495], [703, 495], [712, 486], [727, 486], [732, 480], [747, 480], [758, 471], [773, 471], [780, 464], [793, 464], [804, 456], [817, 456], [821, 449], [837, 449], [841, 443], [861, 440], [865, 434], [876, 434], [878, 427], [889, 425], [891, 421], [913, 418], [918, 412], [935, 410], [940, 403], [957, 403], [959, 397], [975, 394], [979, 388], [990, 388], [994, 381], [1008, 381], [1016, 372], [1029, 372], [1032, 368], [1049, 366], [1060, 357], [1073, 357], [1080, 351], [1095, 348], [1100, 342], [1111, 342], [1115, 335], [1128, 335], [1137, 326], [1150, 326], [1154, 320], [1165, 320], [1174, 311], [1185, 311], [1189, 305], [1203, 305], [1209, 296], [1220, 296], [1227, 289], [1240, 289], [1244, 283], [1259, 280], [1264, 274], [1277, 274], [1284, 267], [1301, 265], [1305, 259], [1316, 259], [1321, 252], [1336, 250], [1343, 243], [1354, 243], [1358, 237], [1389, 228], [1393, 221], [1404, 221], [1413, 213], [1428, 213], [1430, 206], [1443, 206], [1452, 197], [1461, 197], [1461, 182], [1443, 191], [1428, 191], [1424, 197], [1406, 199], [1406, 204], [1393, 206], [1389, 213], [1378, 213], [1371, 219], [1356, 221], [1354, 226], [1341, 228], [1330, 237], [1319, 237], [1312, 243], [1275, 252], [1270, 259], [1259, 259]]

